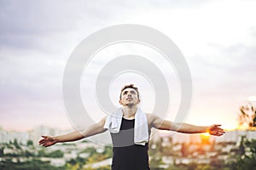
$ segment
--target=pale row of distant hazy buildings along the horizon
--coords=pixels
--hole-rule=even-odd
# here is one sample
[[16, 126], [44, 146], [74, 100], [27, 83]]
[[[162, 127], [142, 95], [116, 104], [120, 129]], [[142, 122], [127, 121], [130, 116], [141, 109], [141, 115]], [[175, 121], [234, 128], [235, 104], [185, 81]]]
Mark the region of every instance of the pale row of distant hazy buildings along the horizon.
[[[14, 141], [15, 139], [20, 144], [26, 144], [28, 140], [32, 140], [34, 144], [38, 144], [38, 140], [41, 138], [41, 135], [50, 135], [56, 136], [64, 133], [72, 132], [73, 130], [60, 130], [50, 127], [35, 127], [34, 129], [27, 132], [18, 132], [18, 131], [6, 131], [3, 128], [0, 128], [0, 143], [8, 143], [9, 141]], [[200, 143], [201, 136], [203, 134], [186, 134], [186, 133], [176, 133], [176, 132], [167, 132], [167, 131], [153, 131], [151, 136], [152, 140], [159, 138], [172, 138], [172, 143]], [[227, 131], [224, 136], [214, 137], [209, 136], [210, 141], [215, 142], [240, 142], [241, 136], [247, 136], [247, 139], [256, 139], [256, 131], [248, 130], [239, 130], [235, 129], [232, 131]]]

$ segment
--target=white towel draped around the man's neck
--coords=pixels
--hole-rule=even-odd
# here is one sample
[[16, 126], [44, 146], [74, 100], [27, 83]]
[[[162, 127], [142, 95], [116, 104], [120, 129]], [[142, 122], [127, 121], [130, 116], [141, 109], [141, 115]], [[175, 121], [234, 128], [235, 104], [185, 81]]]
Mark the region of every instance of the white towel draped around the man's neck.
[[[122, 117], [123, 111], [119, 108], [118, 111], [107, 117], [104, 128], [108, 128], [110, 133], [119, 133]], [[134, 143], [142, 145], [148, 143], [148, 119], [140, 108], [137, 108], [135, 114]]]

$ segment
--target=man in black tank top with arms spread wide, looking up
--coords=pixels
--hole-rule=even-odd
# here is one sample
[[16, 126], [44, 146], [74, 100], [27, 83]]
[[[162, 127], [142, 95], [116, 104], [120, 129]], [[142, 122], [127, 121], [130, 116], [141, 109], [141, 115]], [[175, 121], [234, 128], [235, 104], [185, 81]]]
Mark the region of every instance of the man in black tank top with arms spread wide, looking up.
[[42, 136], [39, 141], [44, 147], [62, 142], [84, 139], [103, 133], [107, 129], [113, 141], [113, 170], [148, 170], [148, 140], [151, 128], [177, 131], [178, 133], [210, 133], [215, 136], [224, 134], [220, 125], [209, 127], [195, 126], [187, 123], [170, 122], [153, 114], [145, 114], [137, 105], [140, 103], [139, 92], [133, 84], [121, 89], [119, 109], [113, 116], [102, 120], [83, 132], [73, 132], [61, 136]]

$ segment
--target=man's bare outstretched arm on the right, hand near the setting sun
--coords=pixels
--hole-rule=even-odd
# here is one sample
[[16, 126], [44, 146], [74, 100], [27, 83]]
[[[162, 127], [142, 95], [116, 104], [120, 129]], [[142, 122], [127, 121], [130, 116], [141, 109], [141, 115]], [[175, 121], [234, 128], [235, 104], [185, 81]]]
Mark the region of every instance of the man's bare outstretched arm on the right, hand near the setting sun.
[[159, 116], [152, 115], [151, 126], [160, 130], [177, 131], [178, 133], [210, 133], [215, 136], [223, 135], [224, 129], [220, 125], [213, 124], [212, 126], [195, 126], [188, 123], [170, 122], [161, 119]]

